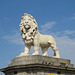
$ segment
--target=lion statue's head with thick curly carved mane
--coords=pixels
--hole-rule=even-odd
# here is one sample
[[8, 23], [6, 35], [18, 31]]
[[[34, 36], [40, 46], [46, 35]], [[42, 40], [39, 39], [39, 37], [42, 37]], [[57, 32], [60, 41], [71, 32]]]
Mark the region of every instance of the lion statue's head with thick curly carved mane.
[[20, 31], [22, 31], [22, 38], [25, 43], [31, 43], [38, 32], [37, 22], [33, 16], [24, 14], [20, 23]]

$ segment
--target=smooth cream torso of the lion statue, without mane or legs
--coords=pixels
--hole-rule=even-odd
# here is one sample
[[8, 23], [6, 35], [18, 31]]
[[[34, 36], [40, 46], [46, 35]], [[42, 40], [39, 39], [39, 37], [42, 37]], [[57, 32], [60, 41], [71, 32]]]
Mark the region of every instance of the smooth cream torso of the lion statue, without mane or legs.
[[36, 43], [35, 40], [37, 43], [39, 43], [40, 47], [50, 47], [51, 44], [56, 45], [54, 38], [50, 35], [42, 35], [42, 34], [38, 33], [34, 37], [33, 45], [34, 45], [34, 43]]

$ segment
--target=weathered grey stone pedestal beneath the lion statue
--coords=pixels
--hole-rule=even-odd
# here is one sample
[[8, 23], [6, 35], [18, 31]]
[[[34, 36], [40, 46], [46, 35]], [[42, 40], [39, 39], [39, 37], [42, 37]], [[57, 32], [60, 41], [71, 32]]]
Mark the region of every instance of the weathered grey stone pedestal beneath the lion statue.
[[75, 75], [70, 60], [40, 55], [17, 57], [0, 71], [5, 75]]

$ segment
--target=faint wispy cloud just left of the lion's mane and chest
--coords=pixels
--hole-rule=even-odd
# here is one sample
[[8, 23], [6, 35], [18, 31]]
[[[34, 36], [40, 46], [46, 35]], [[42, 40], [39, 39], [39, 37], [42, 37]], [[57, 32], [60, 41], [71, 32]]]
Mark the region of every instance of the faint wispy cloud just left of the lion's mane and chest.
[[11, 43], [15, 43], [18, 45], [24, 45], [19, 32], [14, 33], [14, 35], [5, 35], [2, 38], [10, 41]]

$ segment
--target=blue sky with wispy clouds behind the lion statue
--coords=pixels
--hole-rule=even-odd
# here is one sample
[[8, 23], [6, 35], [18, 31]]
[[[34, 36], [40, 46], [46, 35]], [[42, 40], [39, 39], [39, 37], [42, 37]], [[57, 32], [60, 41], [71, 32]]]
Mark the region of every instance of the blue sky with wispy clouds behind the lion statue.
[[[24, 13], [36, 19], [41, 34], [55, 38], [61, 58], [75, 64], [75, 0], [0, 0], [0, 68], [24, 51], [19, 30]], [[53, 56], [51, 48], [48, 53]]]

